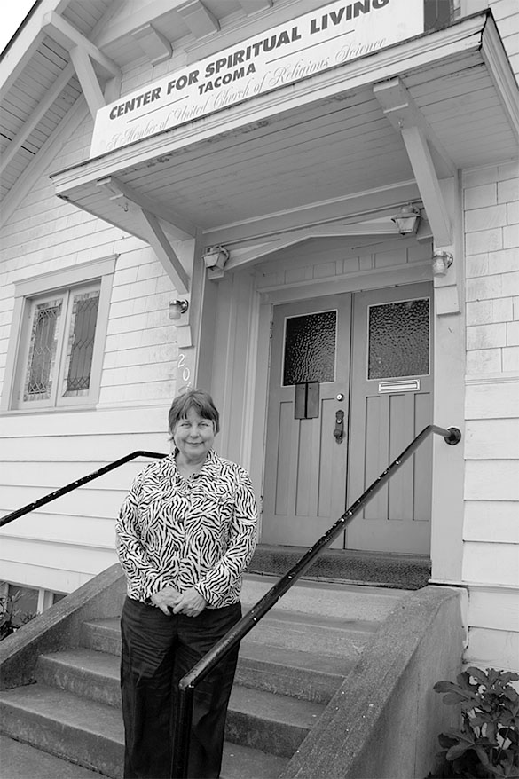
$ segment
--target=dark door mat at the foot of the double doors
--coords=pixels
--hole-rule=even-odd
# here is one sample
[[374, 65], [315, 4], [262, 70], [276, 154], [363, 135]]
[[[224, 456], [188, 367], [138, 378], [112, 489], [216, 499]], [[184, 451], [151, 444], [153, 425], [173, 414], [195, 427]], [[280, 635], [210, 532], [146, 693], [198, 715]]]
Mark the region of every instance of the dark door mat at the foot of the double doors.
[[[307, 547], [258, 544], [248, 572], [281, 577], [307, 551]], [[418, 590], [429, 584], [430, 570], [427, 556], [327, 549], [311, 564], [303, 578]]]

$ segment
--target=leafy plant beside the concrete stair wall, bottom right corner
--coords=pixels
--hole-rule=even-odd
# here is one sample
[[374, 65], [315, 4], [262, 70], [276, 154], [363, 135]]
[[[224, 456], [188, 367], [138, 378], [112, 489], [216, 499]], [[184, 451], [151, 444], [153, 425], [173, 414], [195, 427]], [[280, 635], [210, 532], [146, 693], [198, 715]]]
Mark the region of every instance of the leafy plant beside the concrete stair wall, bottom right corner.
[[460, 728], [450, 728], [438, 740], [444, 777], [519, 777], [519, 693], [511, 682], [519, 674], [468, 668], [457, 681], [438, 681], [444, 704], [459, 705]]

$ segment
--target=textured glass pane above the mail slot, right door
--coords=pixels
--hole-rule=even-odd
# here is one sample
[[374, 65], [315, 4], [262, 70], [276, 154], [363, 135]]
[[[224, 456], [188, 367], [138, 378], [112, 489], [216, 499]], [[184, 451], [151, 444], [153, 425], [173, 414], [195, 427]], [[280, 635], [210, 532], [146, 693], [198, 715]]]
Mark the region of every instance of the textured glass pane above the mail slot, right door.
[[429, 298], [370, 306], [368, 379], [429, 374]]

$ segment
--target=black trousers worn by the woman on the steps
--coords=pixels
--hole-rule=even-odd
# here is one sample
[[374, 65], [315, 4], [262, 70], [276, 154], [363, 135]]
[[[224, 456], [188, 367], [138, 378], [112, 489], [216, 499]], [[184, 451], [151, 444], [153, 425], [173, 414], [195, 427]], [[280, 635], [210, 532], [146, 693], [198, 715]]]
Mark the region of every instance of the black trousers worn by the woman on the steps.
[[[198, 617], [166, 617], [126, 598], [122, 608], [121, 690], [125, 779], [169, 779], [178, 681], [241, 617], [240, 603]], [[188, 762], [192, 779], [220, 775], [224, 727], [238, 648], [195, 689]]]

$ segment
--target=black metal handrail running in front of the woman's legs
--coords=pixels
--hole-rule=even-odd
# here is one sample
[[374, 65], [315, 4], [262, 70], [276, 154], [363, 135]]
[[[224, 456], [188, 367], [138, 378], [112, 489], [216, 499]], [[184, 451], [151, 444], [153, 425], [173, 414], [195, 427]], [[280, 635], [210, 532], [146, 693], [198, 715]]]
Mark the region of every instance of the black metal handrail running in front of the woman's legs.
[[373, 484], [370, 484], [366, 492], [364, 492], [332, 525], [332, 527], [318, 539], [314, 546], [311, 547], [297, 563], [295, 563], [293, 568], [280, 578], [279, 582], [272, 586], [268, 593], [263, 595], [263, 598], [248, 611], [245, 617], [242, 617], [240, 621], [224, 635], [224, 638], [218, 641], [213, 649], [210, 649], [196, 665], [193, 665], [191, 671], [186, 673], [178, 682], [177, 716], [175, 720], [174, 751], [171, 765], [172, 779], [185, 779], [187, 776], [195, 686], [228, 652], [231, 651], [231, 649], [236, 647], [241, 639], [243, 639], [254, 626], [257, 625], [260, 619], [263, 618], [264, 615], [271, 610], [272, 606], [279, 601], [279, 598], [286, 594], [287, 590], [295, 584], [297, 579], [303, 576], [303, 573], [310, 568], [311, 563], [314, 562], [318, 555], [344, 530], [345, 527], [347, 527], [348, 524], [350, 524], [351, 520], [358, 515], [358, 512], [362, 508], [364, 508], [368, 500], [371, 500], [374, 495], [381, 490], [391, 476], [397, 472], [398, 468], [412, 456], [413, 452], [418, 449], [431, 433], [436, 433], [436, 435], [444, 437], [445, 443], [452, 446], [458, 444], [461, 440], [461, 433], [458, 428], [445, 429], [440, 428], [437, 425], [428, 425], [424, 428], [421, 433], [414, 438], [412, 443], [405, 448], [404, 452], [402, 452], [396, 460], [393, 460], [381, 476], [375, 479]]

